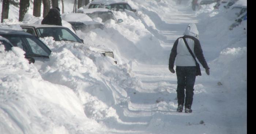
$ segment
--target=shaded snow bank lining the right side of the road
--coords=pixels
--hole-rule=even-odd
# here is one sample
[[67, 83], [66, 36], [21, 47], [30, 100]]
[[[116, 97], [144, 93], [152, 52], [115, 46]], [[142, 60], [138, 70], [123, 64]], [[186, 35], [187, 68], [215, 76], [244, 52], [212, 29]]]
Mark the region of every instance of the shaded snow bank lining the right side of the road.
[[[246, 5], [246, 0], [233, 6], [237, 5]], [[199, 10], [202, 12], [199, 17], [205, 18], [198, 23], [199, 30], [203, 31], [199, 37], [201, 43], [208, 46], [203, 50], [206, 59], [211, 60], [211, 76], [229, 90], [244, 92], [247, 91], [247, 20], [230, 31], [229, 26], [237, 19], [231, 8]]]

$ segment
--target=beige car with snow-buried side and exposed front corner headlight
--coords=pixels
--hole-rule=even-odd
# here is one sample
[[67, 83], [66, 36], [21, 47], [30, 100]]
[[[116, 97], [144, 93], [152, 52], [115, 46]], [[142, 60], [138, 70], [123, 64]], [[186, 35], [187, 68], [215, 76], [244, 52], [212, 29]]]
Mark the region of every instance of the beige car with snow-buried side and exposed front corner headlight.
[[38, 24], [19, 24], [20, 27], [25, 32], [29, 32], [38, 38], [53, 37], [55, 41], [64, 41], [66, 43], [80, 43], [87, 45], [93, 51], [102, 53], [104, 56], [110, 56], [114, 58], [112, 50], [107, 48], [101, 48], [97, 46], [91, 46], [89, 44], [84, 44], [83, 40], [80, 39], [74, 32], [69, 28], [59, 26], [59, 25], [38, 25]]

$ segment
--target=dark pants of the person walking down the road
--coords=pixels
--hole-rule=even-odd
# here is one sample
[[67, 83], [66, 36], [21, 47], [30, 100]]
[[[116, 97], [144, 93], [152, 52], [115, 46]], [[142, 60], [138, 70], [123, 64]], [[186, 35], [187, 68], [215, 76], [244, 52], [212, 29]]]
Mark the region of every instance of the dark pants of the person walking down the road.
[[[176, 74], [177, 74], [177, 99], [178, 105], [184, 105], [185, 99], [185, 107], [188, 105], [192, 105], [193, 95], [194, 95], [194, 84], [196, 80], [196, 67], [189, 66], [176, 66]], [[186, 98], [185, 98], [185, 88], [186, 88]]]

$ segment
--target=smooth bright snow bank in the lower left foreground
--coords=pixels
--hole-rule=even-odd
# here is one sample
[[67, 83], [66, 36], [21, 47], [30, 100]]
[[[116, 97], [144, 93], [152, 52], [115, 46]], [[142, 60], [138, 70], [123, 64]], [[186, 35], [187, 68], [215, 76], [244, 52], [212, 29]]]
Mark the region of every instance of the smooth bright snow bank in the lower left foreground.
[[37, 68], [24, 58], [23, 50], [13, 47], [5, 52], [0, 45], [0, 51], [1, 132], [90, 133], [100, 127], [84, 115], [75, 92], [44, 81]]

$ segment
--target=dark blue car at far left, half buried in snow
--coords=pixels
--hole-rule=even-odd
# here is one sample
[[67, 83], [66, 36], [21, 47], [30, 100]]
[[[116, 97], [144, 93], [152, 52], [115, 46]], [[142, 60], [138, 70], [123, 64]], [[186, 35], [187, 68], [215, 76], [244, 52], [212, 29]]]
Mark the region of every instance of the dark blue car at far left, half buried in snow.
[[0, 29], [0, 36], [0, 42], [5, 46], [5, 50], [11, 50], [11, 47], [21, 48], [26, 52], [25, 58], [29, 60], [29, 63], [49, 61], [52, 51], [35, 36], [12, 29]]

